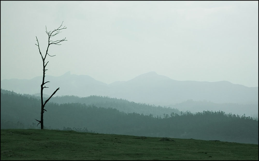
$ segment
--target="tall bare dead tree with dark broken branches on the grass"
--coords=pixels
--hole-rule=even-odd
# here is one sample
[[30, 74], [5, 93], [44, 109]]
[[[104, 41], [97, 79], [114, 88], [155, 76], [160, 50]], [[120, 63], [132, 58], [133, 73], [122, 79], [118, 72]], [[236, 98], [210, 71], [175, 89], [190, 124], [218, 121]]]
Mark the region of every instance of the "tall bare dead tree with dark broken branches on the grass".
[[[56, 41], [51, 41], [50, 40], [51, 37], [56, 36], [57, 34], [61, 33], [62, 32], [61, 30], [66, 29], [66, 26], [64, 26], [64, 27], [62, 27], [62, 26], [63, 26], [63, 22], [61, 23], [59, 28], [54, 29], [54, 31], [49, 31], [49, 32], [47, 31], [47, 26], [46, 26], [46, 33], [48, 34], [48, 47], [47, 47], [45, 55], [42, 55], [42, 53], [40, 52], [40, 45], [39, 45], [38, 38], [36, 36], [36, 40], [37, 40], [38, 45], [37, 44], [35, 44], [35, 45], [37, 45], [38, 48], [39, 48], [39, 52], [40, 52], [41, 59], [42, 59], [42, 62], [43, 62], [43, 77], [42, 77], [42, 84], [40, 85], [40, 98], [41, 98], [40, 121], [35, 119], [35, 120], [37, 120], [39, 122], [38, 125], [40, 124], [41, 129], [43, 129], [43, 113], [45, 111], [47, 111], [47, 110], [44, 109], [44, 107], [45, 107], [46, 103], [49, 101], [49, 99], [51, 99], [51, 97], [59, 90], [59, 88], [57, 88], [56, 91], [53, 92], [53, 94], [45, 101], [45, 103], [43, 103], [43, 89], [44, 88], [48, 88], [48, 87], [45, 86], [45, 84], [49, 82], [49, 81], [45, 82], [45, 80], [44, 80], [45, 79], [45, 74], [46, 74], [45, 72], [46, 72], [46, 70], [48, 70], [48, 69], [46, 69], [46, 66], [47, 66], [48, 62], [45, 64], [45, 59], [46, 59], [46, 56], [49, 55], [48, 54], [48, 49], [49, 49], [50, 45], [61, 45], [60, 43], [62, 41], [67, 41], [66, 37], [64, 39], [56, 40]], [[52, 56], [49, 55], [49, 56], [50, 57], [54, 57], [55, 55], [52, 55]]]

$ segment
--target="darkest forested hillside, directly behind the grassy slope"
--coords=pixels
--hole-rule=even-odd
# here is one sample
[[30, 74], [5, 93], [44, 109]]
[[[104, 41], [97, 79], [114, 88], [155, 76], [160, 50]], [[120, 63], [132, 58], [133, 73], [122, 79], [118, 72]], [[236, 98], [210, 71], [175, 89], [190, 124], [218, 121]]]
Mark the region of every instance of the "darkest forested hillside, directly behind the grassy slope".
[[[154, 136], [258, 144], [258, 121], [250, 117], [203, 111], [152, 117], [81, 103], [48, 102], [44, 125], [49, 129], [84, 129], [98, 133]], [[40, 100], [1, 92], [1, 128], [39, 128]]]

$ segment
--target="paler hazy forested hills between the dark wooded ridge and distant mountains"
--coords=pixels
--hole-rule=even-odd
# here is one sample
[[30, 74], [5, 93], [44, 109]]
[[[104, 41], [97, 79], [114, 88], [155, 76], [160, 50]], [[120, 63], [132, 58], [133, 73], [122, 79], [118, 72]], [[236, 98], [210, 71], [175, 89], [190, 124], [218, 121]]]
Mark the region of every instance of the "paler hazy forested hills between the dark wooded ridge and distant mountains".
[[[40, 97], [38, 97], [40, 99]], [[153, 116], [162, 116], [163, 114], [170, 115], [171, 112], [180, 114], [181, 111], [185, 113], [200, 112], [200, 111], [224, 111], [226, 113], [232, 113], [235, 115], [250, 116], [258, 119], [258, 104], [237, 104], [237, 103], [213, 103], [208, 101], [193, 101], [186, 100], [182, 103], [171, 104], [168, 106], [155, 106], [145, 103], [135, 103], [125, 99], [110, 98], [107, 96], [89, 96], [89, 97], [78, 97], [78, 96], [56, 96], [50, 101], [56, 103], [85, 103], [94, 104], [97, 107], [111, 107], [116, 108], [119, 111], [125, 113], [136, 112], [139, 114]], [[242, 109], [242, 110], [241, 110]]]

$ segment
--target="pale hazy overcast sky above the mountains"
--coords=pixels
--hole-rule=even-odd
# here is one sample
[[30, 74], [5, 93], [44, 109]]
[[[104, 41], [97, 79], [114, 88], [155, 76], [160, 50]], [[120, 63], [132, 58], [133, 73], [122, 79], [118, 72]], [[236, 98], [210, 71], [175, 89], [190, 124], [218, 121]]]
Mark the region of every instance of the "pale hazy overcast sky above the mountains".
[[155, 71], [258, 87], [258, 1], [1, 1], [1, 80], [89, 75], [110, 84]]

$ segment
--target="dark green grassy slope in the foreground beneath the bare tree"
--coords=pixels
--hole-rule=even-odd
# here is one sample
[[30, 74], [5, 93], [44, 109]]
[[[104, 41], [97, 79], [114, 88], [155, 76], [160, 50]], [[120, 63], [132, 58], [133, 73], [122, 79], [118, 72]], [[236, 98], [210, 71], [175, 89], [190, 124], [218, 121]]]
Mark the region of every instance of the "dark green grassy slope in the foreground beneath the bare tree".
[[1, 160], [258, 160], [258, 145], [59, 130], [1, 129]]

